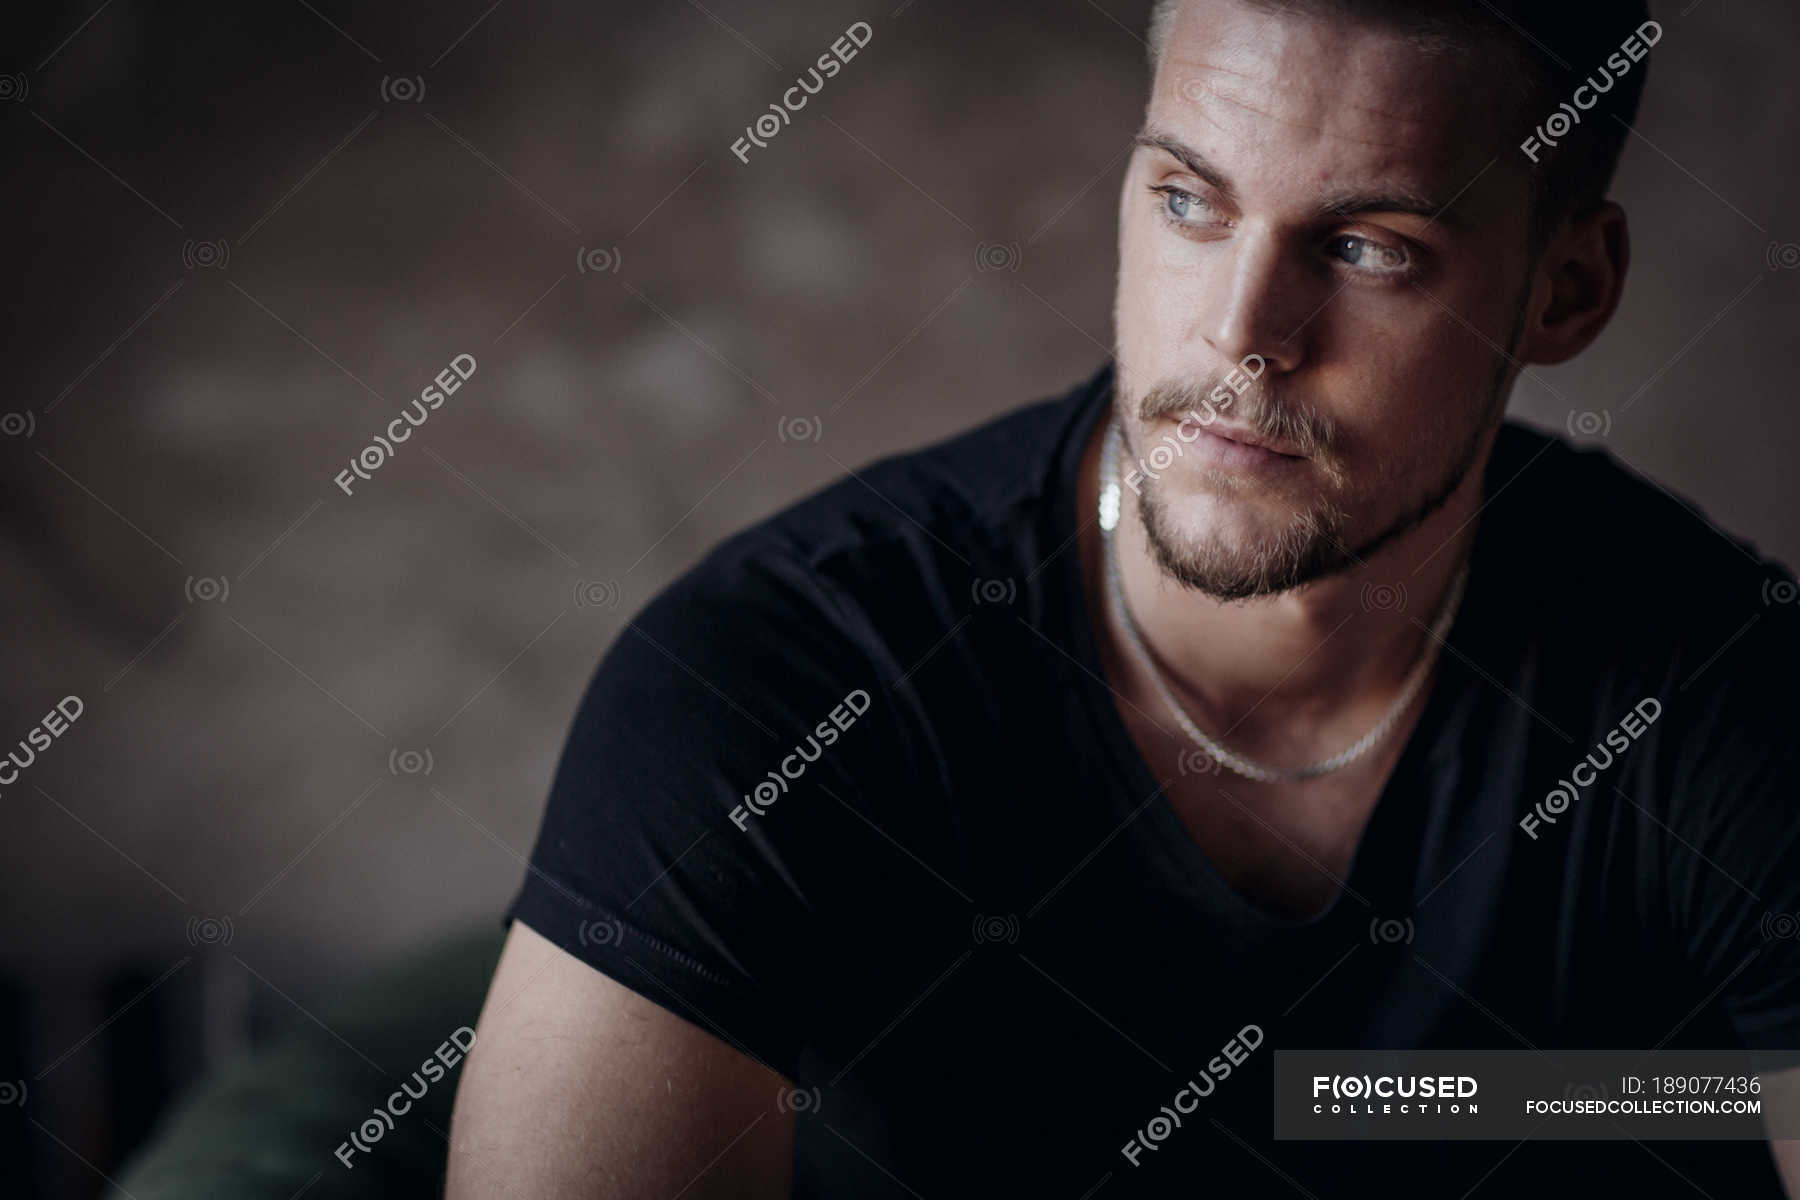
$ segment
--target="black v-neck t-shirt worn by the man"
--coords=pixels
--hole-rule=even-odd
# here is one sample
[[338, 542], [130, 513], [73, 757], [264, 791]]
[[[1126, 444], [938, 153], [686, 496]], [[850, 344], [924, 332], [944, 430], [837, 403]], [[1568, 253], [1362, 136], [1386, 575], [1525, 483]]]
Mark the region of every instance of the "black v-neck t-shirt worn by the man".
[[1508, 421], [1348, 889], [1282, 919], [1105, 685], [1075, 468], [1109, 390], [875, 462], [659, 594], [581, 700], [508, 919], [787, 1076], [797, 1196], [1780, 1196], [1751, 1141], [1274, 1141], [1271, 1061], [1800, 1049], [1793, 578]]

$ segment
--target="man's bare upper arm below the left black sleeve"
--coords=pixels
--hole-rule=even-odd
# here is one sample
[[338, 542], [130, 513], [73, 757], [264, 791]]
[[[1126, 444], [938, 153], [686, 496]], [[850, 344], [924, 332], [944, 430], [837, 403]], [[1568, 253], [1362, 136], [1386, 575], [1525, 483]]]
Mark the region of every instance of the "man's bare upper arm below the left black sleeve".
[[787, 1196], [787, 1087], [515, 921], [457, 1088], [445, 1195]]

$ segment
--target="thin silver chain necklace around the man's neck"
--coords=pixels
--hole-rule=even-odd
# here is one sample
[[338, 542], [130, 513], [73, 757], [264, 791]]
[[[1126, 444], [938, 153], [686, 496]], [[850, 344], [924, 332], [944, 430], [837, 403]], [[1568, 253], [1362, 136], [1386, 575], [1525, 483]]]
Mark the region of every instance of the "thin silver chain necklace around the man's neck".
[[1406, 684], [1400, 687], [1400, 694], [1395, 696], [1388, 712], [1370, 729], [1366, 734], [1357, 738], [1354, 743], [1339, 750], [1337, 754], [1319, 759], [1318, 763], [1309, 763], [1307, 766], [1269, 766], [1265, 763], [1255, 763], [1235, 750], [1226, 748], [1213, 738], [1208, 738], [1175, 693], [1170, 691], [1168, 682], [1163, 678], [1163, 671], [1156, 666], [1150, 651], [1143, 644], [1143, 633], [1138, 630], [1138, 621], [1130, 613], [1130, 604], [1125, 603], [1125, 588], [1120, 585], [1120, 563], [1118, 549], [1112, 545], [1112, 529], [1120, 522], [1120, 480], [1118, 480], [1118, 450], [1123, 443], [1120, 437], [1120, 428], [1116, 419], [1107, 421], [1105, 443], [1100, 448], [1100, 540], [1105, 549], [1107, 558], [1107, 592], [1112, 597], [1112, 606], [1118, 608], [1121, 622], [1125, 626], [1125, 637], [1130, 642], [1132, 653], [1138, 662], [1143, 664], [1145, 673], [1150, 676], [1150, 684], [1156, 687], [1163, 703], [1168, 711], [1175, 714], [1175, 721], [1181, 729], [1201, 747], [1215, 763], [1229, 768], [1231, 772], [1244, 775], [1247, 779], [1256, 779], [1260, 783], [1280, 783], [1280, 781], [1298, 781], [1314, 779], [1327, 772], [1334, 772], [1346, 763], [1354, 763], [1364, 754], [1368, 754], [1382, 736], [1393, 729], [1393, 723], [1406, 712], [1413, 696], [1418, 693], [1420, 685], [1426, 682], [1426, 675], [1431, 671], [1435, 660], [1433, 648], [1436, 642], [1444, 640], [1449, 633], [1451, 622], [1456, 619], [1456, 608], [1462, 604], [1463, 585], [1469, 581], [1469, 565], [1465, 563], [1458, 569], [1456, 578], [1451, 581], [1449, 592], [1444, 596], [1444, 606], [1438, 612], [1438, 619], [1431, 624], [1431, 637], [1418, 653], [1418, 662], [1413, 666], [1411, 673], [1406, 676]]

